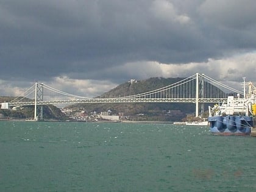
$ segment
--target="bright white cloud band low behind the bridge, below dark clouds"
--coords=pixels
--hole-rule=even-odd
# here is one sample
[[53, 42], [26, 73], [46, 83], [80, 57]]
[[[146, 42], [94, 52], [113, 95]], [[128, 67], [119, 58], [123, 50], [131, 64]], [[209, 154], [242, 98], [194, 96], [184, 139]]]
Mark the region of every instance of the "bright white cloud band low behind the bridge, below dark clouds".
[[[240, 89], [243, 77], [246, 80], [255, 81], [256, 52], [234, 55], [225, 59], [208, 59], [206, 62], [191, 63], [159, 63], [155, 61], [129, 62], [118, 67], [108, 68], [98, 76], [102, 80], [94, 79], [72, 79], [68, 76], [57, 76], [44, 80], [43, 84], [66, 93], [76, 94], [93, 98], [105, 93], [118, 84], [127, 82], [130, 79], [143, 80], [150, 77], [189, 77], [196, 73], [206, 74], [219, 82], [233, 88]], [[96, 72], [94, 75], [97, 75]], [[113, 82], [113, 79], [121, 79]], [[34, 82], [28, 85], [25, 81], [15, 82], [12, 87], [6, 80], [0, 80], [0, 93], [2, 95], [21, 95]], [[24, 87], [24, 88], [23, 88]], [[63, 98], [62, 98], [63, 99]]]

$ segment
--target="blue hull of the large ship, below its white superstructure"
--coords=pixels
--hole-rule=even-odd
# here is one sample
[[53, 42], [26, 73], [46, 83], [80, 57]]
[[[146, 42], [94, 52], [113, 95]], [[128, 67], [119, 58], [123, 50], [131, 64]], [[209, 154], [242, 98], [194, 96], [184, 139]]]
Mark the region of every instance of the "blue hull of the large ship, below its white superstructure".
[[209, 116], [210, 131], [218, 135], [249, 135], [254, 120], [251, 116]]

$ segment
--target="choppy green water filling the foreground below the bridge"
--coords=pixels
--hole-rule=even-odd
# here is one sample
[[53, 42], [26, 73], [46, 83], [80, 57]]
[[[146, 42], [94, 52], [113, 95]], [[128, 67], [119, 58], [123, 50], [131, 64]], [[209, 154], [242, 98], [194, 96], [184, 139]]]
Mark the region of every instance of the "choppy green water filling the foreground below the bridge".
[[0, 191], [256, 191], [255, 146], [200, 126], [0, 121]]

